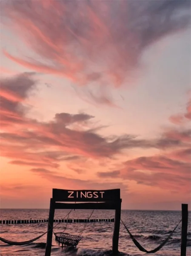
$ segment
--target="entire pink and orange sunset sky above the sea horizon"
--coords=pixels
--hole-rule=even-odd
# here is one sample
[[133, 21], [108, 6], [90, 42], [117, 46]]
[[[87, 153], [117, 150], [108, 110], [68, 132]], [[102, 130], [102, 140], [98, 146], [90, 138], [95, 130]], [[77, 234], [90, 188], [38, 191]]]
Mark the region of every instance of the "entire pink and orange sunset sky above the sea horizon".
[[120, 188], [191, 210], [191, 1], [0, 5], [0, 207]]

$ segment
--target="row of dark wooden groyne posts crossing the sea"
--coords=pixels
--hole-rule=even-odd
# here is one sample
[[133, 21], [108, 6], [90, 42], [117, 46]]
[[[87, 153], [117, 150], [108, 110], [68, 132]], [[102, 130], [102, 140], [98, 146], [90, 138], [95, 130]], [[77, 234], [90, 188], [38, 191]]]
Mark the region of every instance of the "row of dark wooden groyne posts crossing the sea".
[[[112, 219], [57, 219], [54, 222], [65, 222], [65, 223], [81, 223], [81, 222], [114, 222]], [[0, 220], [0, 224], [32, 224], [32, 223], [42, 223], [48, 222], [48, 219], [43, 220]]]

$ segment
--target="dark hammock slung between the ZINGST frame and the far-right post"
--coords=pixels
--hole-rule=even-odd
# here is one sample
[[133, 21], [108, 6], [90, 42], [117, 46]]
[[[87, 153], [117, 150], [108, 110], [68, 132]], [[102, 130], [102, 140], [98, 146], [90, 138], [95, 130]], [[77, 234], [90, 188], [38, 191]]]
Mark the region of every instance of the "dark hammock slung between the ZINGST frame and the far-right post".
[[[122, 221], [122, 219], [121, 219]], [[176, 228], [178, 227], [178, 225], [180, 224], [182, 220], [179, 221], [179, 223], [177, 224], [177, 226], [174, 228], [174, 230], [171, 231], [171, 233], [167, 236], [167, 238], [162, 242], [162, 244], [160, 244], [157, 248], [155, 248], [154, 250], [146, 250], [145, 248], [143, 248], [143, 246], [134, 238], [134, 236], [131, 234], [131, 232], [128, 230], [128, 228], [125, 226], [124, 222], [122, 221], [125, 229], [127, 230], [127, 232], [129, 233], [131, 239], [133, 240], [134, 244], [137, 246], [137, 248], [144, 252], [144, 253], [156, 253], [158, 250], [160, 250], [170, 239], [170, 237], [172, 236], [172, 234], [174, 233], [174, 231], [176, 230]]]

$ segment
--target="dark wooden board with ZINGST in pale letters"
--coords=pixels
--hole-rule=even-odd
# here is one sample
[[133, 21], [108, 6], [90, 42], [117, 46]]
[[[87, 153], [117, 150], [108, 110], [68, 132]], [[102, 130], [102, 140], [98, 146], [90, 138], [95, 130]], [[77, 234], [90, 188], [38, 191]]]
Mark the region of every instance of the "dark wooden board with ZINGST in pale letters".
[[120, 189], [66, 190], [53, 189], [52, 198], [57, 202], [104, 202], [120, 200]]

